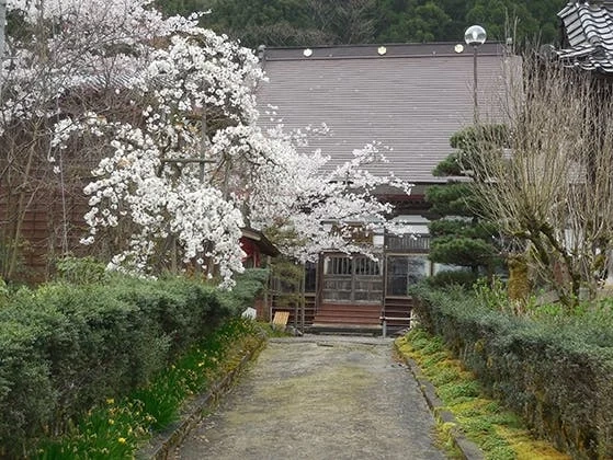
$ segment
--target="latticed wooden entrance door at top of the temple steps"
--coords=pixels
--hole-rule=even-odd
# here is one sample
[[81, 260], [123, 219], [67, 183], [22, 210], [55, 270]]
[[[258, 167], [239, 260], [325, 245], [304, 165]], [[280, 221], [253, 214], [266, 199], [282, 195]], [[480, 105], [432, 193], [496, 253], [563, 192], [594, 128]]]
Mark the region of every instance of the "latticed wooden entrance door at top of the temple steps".
[[378, 261], [364, 255], [326, 254], [323, 303], [381, 304], [383, 273]]

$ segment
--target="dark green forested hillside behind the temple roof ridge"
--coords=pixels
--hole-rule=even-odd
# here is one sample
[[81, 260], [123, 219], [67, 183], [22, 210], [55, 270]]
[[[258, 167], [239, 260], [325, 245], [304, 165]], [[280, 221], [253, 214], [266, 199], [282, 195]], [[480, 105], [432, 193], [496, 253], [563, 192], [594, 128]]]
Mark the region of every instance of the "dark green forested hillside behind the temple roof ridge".
[[557, 45], [565, 0], [158, 0], [167, 13], [207, 11], [202, 24], [243, 46], [458, 42], [472, 24], [488, 39]]

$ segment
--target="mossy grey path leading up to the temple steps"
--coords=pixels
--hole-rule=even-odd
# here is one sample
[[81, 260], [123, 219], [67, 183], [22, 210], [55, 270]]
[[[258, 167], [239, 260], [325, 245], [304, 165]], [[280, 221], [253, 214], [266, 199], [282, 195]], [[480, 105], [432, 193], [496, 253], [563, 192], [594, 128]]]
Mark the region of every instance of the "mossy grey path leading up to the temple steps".
[[390, 340], [272, 340], [175, 459], [444, 459], [433, 426]]

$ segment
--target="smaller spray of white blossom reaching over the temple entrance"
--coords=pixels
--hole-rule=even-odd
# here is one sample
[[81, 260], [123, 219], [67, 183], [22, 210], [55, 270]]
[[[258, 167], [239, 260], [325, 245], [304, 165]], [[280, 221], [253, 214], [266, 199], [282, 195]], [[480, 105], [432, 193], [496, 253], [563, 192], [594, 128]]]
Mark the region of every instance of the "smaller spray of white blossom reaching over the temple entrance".
[[355, 150], [352, 161], [330, 168], [330, 157], [305, 149], [308, 131], [284, 135], [275, 128], [269, 136], [277, 139], [276, 161], [259, 170], [262, 180], [249, 194], [250, 215], [256, 227], [275, 235], [284, 254], [302, 263], [316, 261], [326, 250], [374, 257], [372, 246], [353, 238], [355, 232], [407, 230], [389, 221], [393, 206], [377, 199], [377, 192], [391, 186], [409, 194], [411, 185], [391, 173], [368, 172], [370, 165], [387, 161], [385, 146], [372, 142]]

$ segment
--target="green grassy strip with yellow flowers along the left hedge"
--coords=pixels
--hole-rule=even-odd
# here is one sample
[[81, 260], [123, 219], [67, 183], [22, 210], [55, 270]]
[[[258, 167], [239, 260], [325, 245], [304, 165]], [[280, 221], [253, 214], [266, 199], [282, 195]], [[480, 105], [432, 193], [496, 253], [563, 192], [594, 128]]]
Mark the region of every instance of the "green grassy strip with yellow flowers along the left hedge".
[[185, 401], [203, 393], [217, 378], [235, 368], [247, 349], [260, 343], [260, 330], [235, 320], [209, 334], [197, 346], [160, 372], [145, 388], [93, 407], [69, 434], [46, 439], [37, 450], [42, 460], [132, 459], [156, 432], [180, 416]]

